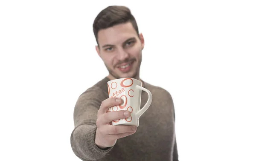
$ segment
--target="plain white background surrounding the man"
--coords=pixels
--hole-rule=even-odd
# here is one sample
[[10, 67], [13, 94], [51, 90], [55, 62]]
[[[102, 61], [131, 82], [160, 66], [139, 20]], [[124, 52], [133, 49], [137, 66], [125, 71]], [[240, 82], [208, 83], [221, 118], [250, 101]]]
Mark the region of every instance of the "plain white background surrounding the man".
[[173, 97], [180, 161], [256, 161], [253, 0], [2, 0], [0, 160], [79, 161], [73, 108], [108, 75], [92, 24], [110, 5], [144, 35], [141, 78]]

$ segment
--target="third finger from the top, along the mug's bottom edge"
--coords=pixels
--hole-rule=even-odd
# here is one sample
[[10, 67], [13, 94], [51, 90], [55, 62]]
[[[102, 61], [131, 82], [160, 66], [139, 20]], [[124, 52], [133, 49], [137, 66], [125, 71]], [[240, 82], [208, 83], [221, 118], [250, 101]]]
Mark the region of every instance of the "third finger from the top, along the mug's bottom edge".
[[127, 126], [127, 125], [118, 125], [118, 126], [105, 126], [107, 134], [122, 134], [127, 132], [136, 132], [137, 126]]

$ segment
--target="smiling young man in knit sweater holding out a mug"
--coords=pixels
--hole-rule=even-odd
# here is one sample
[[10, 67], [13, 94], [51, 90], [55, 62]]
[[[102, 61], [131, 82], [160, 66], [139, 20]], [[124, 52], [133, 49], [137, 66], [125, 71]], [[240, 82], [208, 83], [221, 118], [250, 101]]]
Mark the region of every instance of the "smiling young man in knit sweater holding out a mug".
[[[140, 79], [144, 38], [134, 16], [125, 6], [109, 6], [93, 23], [96, 51], [109, 75], [80, 95], [74, 109], [73, 152], [83, 161], [178, 161], [175, 111], [165, 89]], [[129, 111], [108, 112], [122, 99], [108, 98], [109, 80], [135, 78], [143, 82], [153, 100], [140, 117], [140, 126], [111, 122], [130, 116]], [[142, 92], [141, 106], [148, 99]]]

